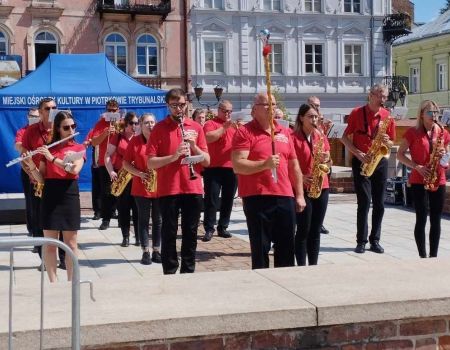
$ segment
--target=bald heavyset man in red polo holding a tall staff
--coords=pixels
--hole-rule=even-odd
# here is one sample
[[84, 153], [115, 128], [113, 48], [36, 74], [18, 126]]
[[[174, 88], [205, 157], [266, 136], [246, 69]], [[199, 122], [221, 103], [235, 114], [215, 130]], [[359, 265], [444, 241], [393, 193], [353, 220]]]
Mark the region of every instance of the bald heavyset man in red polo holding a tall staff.
[[267, 94], [256, 95], [253, 120], [236, 131], [231, 153], [247, 219], [252, 269], [269, 267], [271, 242], [275, 246], [274, 266], [294, 266], [295, 212], [306, 206], [290, 130], [275, 121], [272, 140], [268, 101]]

